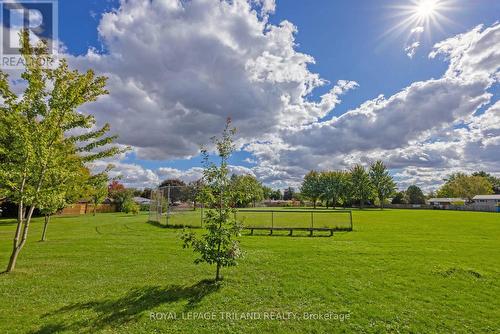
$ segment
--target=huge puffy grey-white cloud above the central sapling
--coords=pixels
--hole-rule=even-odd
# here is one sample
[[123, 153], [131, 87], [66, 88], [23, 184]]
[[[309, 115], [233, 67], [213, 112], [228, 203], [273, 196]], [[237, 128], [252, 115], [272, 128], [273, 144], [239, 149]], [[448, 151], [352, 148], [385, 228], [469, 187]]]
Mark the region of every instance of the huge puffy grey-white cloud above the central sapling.
[[329, 83], [295, 50], [296, 27], [267, 21], [274, 8], [269, 0], [121, 2], [99, 24], [108, 52], [70, 57], [109, 77], [110, 95], [86, 110], [138, 157], [157, 160], [196, 155], [228, 116], [240, 143], [317, 121], [356, 83], [339, 81], [311, 101]]

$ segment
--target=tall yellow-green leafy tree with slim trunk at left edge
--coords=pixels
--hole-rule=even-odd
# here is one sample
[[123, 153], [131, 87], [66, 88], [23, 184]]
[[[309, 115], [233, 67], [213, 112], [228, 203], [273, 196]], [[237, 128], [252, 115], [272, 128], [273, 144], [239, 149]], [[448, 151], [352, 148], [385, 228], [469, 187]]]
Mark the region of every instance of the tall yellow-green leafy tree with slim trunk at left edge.
[[47, 178], [66, 168], [67, 159], [75, 156], [90, 162], [120, 152], [116, 147], [106, 148], [115, 139], [106, 136], [109, 125], [91, 130], [94, 117], [77, 111], [107, 94], [106, 78], [90, 70], [72, 71], [64, 59], [56, 66], [45, 45], [30, 45], [27, 31], [21, 34], [21, 46], [26, 64], [21, 75], [24, 92], [14, 93], [8, 75], [0, 72], [0, 184], [18, 205], [7, 272], [14, 270], [26, 244], [35, 208], [44, 206], [41, 194]]

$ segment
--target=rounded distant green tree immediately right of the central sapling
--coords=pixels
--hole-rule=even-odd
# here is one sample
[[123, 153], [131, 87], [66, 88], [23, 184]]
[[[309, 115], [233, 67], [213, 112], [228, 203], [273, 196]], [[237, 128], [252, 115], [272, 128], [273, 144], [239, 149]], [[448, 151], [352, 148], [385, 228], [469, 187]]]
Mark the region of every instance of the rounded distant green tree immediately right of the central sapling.
[[252, 175], [232, 175], [229, 185], [234, 195], [232, 199], [233, 206], [246, 207], [249, 204], [262, 201], [264, 192], [262, 184]]

